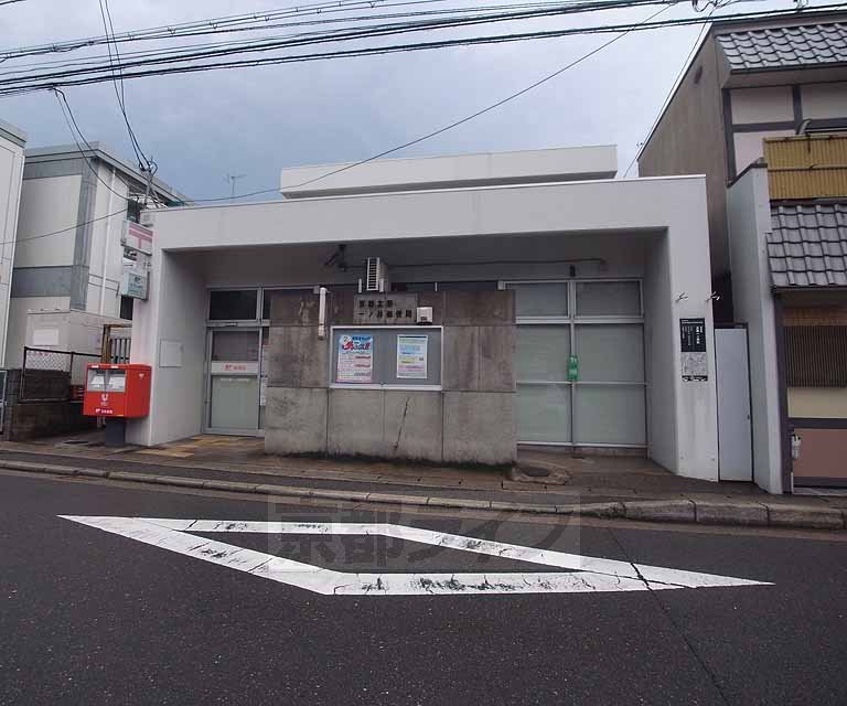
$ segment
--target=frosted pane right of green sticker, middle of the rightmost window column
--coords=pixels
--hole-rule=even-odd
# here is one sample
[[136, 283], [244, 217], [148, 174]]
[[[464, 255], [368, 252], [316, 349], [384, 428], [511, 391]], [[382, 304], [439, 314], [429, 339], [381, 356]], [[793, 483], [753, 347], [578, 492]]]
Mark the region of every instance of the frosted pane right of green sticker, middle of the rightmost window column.
[[644, 331], [640, 323], [577, 327], [575, 342], [580, 381], [644, 382]]

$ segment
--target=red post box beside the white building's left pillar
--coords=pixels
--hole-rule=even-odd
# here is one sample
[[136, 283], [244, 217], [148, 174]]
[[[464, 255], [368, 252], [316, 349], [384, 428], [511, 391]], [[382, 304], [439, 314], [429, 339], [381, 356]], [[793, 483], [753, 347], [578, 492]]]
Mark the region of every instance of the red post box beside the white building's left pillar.
[[94, 363], [85, 378], [83, 414], [89, 417], [147, 417], [150, 414], [149, 365]]

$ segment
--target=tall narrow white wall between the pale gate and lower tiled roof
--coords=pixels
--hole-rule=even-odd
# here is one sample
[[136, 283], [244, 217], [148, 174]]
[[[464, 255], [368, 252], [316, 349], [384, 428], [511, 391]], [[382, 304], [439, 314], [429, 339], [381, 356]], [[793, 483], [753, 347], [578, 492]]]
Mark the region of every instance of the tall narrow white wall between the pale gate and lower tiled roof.
[[768, 171], [753, 168], [728, 191], [727, 213], [736, 319], [748, 324], [753, 422], [753, 478], [781, 493], [779, 375], [771, 274], [765, 235], [771, 229]]

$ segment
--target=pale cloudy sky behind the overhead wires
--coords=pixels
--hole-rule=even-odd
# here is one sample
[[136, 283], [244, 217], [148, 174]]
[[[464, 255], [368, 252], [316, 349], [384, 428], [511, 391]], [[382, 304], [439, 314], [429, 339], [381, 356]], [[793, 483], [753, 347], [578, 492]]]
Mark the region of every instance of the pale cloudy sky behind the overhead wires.
[[[294, 3], [110, 0], [110, 7], [115, 30], [121, 32]], [[725, 12], [792, 7], [789, 0], [768, 0], [736, 4]], [[641, 21], [655, 11], [642, 7], [534, 20], [495, 31]], [[690, 3], [680, 3], [663, 17], [693, 14]], [[623, 170], [699, 29], [629, 34], [527, 95], [396, 156], [615, 143]], [[452, 31], [452, 35], [482, 32], [492, 29]], [[97, 0], [24, 0], [0, 7], [2, 49], [98, 34], [103, 24]], [[448, 34], [420, 39], [442, 35]], [[140, 78], [126, 82], [127, 109], [142, 149], [159, 164], [161, 179], [192, 197], [222, 196], [229, 193], [227, 173], [245, 174], [237, 183], [239, 192], [271, 189], [281, 167], [358, 160], [430, 132], [534, 83], [610, 36]], [[89, 141], [132, 154], [110, 84], [72, 87], [66, 95]], [[71, 142], [52, 94], [0, 97], [0, 118], [23, 128], [30, 146]]]

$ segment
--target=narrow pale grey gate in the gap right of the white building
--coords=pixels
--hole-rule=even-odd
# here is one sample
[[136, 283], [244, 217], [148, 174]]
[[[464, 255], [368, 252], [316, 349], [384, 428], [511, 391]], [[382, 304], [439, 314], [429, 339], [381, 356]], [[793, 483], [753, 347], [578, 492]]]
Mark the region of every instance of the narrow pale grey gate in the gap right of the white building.
[[718, 388], [718, 477], [753, 480], [750, 359], [747, 327], [715, 327]]

